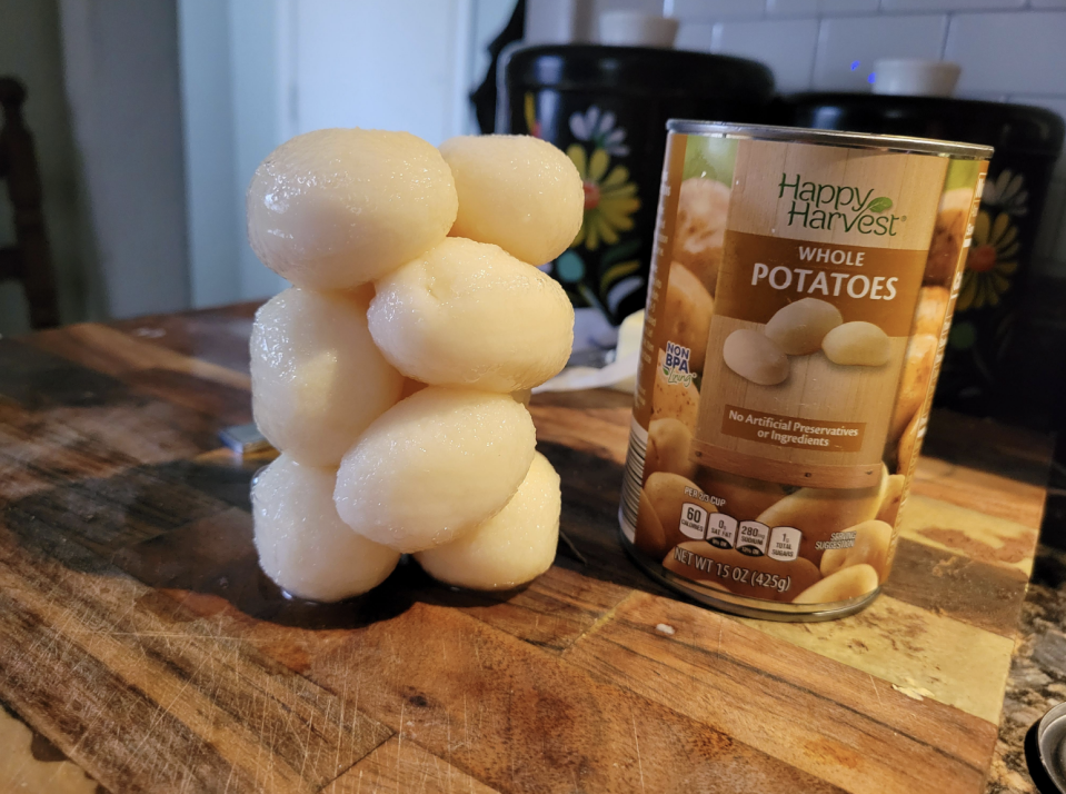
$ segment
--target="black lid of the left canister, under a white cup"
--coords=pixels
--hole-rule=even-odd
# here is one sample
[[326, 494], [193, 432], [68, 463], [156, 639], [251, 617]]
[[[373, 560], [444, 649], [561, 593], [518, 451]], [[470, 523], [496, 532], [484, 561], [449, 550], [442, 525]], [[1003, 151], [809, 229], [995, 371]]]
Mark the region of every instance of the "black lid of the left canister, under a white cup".
[[654, 47], [534, 44], [505, 53], [509, 85], [767, 102], [774, 73], [757, 61]]

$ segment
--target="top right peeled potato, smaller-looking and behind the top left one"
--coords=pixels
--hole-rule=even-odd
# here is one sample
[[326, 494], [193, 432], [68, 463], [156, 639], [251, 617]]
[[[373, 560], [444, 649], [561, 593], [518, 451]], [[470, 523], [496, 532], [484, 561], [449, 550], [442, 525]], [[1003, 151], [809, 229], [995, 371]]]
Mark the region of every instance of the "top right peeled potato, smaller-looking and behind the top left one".
[[585, 189], [562, 151], [531, 136], [488, 135], [446, 140], [440, 153], [459, 193], [452, 237], [492, 242], [530, 265], [569, 248], [581, 228]]

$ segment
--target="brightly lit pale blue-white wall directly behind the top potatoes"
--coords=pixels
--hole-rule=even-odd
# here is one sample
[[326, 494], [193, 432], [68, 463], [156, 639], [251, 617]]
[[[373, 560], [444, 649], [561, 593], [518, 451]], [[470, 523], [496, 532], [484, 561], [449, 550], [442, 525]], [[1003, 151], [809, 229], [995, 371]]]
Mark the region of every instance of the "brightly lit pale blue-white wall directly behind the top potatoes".
[[469, 132], [480, 54], [514, 0], [178, 0], [195, 306], [273, 295], [245, 190], [293, 135], [323, 127]]

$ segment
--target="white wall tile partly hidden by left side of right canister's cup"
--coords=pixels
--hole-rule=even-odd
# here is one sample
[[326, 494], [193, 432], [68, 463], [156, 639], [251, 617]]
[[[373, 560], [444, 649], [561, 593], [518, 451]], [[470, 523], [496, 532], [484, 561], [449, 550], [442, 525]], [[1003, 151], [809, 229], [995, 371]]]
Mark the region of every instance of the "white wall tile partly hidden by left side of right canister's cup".
[[814, 87], [863, 91], [878, 58], [939, 59], [946, 16], [823, 19]]

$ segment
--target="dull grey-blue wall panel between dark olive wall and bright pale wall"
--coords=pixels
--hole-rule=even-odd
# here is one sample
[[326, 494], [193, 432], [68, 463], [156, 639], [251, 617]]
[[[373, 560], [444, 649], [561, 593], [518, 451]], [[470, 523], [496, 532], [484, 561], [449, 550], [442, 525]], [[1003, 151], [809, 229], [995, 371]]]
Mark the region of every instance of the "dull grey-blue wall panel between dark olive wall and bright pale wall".
[[60, 10], [107, 309], [188, 308], [176, 0], [61, 0]]

